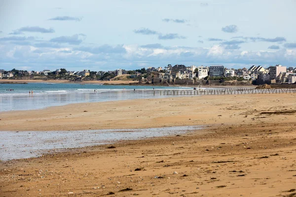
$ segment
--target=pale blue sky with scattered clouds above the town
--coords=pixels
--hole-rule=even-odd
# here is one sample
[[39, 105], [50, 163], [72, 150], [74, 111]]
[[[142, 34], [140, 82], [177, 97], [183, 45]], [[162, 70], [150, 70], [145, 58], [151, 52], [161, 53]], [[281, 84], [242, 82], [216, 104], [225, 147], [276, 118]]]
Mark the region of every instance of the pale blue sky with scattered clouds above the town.
[[0, 69], [296, 67], [296, 0], [0, 0]]

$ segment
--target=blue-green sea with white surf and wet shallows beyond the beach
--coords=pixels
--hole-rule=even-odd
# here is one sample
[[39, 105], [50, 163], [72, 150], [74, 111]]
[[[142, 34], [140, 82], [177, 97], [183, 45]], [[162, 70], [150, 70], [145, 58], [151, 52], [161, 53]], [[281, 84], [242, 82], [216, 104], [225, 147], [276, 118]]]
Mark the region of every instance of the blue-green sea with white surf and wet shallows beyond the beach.
[[[159, 98], [159, 91], [164, 90], [193, 88], [75, 83], [0, 84], [0, 111], [42, 109], [81, 102]], [[33, 94], [29, 94], [31, 91]], [[155, 96], [154, 91], [157, 92]]]

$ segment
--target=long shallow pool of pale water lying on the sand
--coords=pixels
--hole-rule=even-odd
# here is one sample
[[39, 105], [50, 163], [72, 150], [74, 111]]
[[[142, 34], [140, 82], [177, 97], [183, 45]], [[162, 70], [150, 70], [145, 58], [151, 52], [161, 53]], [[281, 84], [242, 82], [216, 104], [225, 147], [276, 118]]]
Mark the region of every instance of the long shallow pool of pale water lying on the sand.
[[143, 139], [199, 130], [198, 126], [130, 130], [0, 131], [0, 160], [38, 157], [67, 148], [102, 145], [117, 140]]

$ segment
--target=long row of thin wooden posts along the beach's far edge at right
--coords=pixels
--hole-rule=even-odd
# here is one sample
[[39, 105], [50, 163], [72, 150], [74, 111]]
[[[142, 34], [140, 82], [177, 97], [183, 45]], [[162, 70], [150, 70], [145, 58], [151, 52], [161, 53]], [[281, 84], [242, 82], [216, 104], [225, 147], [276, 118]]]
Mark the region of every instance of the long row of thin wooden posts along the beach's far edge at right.
[[296, 89], [221, 89], [221, 90], [165, 90], [153, 91], [153, 95], [247, 95], [247, 94], [288, 94], [296, 93]]

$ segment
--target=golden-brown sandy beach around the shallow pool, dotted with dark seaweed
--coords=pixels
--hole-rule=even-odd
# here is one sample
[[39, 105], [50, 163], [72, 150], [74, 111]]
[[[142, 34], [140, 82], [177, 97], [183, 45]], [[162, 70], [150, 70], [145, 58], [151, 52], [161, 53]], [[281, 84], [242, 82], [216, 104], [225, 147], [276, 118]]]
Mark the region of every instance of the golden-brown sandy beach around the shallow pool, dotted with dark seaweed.
[[1, 162], [0, 196], [296, 197], [295, 100], [295, 94], [213, 95], [2, 112], [2, 131], [206, 126], [115, 148]]

